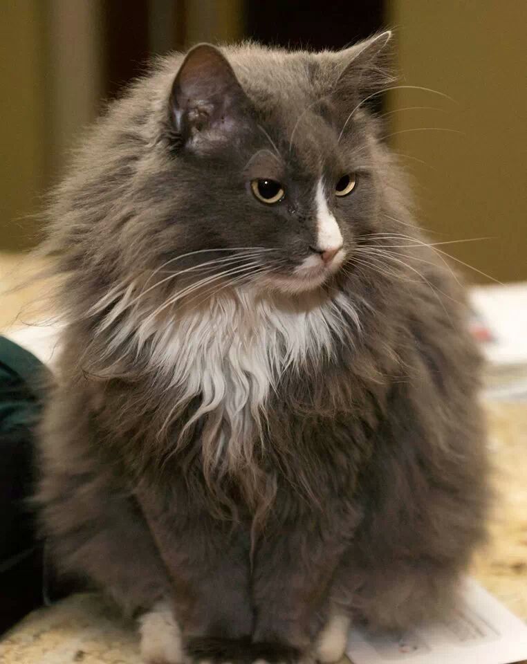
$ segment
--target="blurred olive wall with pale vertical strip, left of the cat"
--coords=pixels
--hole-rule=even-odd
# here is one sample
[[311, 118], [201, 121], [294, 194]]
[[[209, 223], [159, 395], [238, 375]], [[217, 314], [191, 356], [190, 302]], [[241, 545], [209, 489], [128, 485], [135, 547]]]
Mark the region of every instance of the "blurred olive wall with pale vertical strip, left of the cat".
[[32, 246], [32, 216], [101, 98], [101, 0], [0, 2], [0, 250]]

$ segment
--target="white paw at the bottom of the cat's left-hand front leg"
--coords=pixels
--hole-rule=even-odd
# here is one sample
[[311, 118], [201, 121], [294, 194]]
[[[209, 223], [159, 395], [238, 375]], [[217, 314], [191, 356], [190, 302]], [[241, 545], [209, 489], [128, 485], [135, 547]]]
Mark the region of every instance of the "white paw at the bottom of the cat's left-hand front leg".
[[141, 656], [146, 664], [181, 664], [181, 631], [168, 602], [158, 602], [139, 618]]

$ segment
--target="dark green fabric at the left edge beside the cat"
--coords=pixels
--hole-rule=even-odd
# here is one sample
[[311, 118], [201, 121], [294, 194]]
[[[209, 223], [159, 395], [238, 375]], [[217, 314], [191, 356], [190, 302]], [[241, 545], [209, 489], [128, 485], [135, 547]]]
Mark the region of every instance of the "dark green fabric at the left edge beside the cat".
[[32, 353], [0, 336], [0, 432], [35, 421], [46, 372]]

